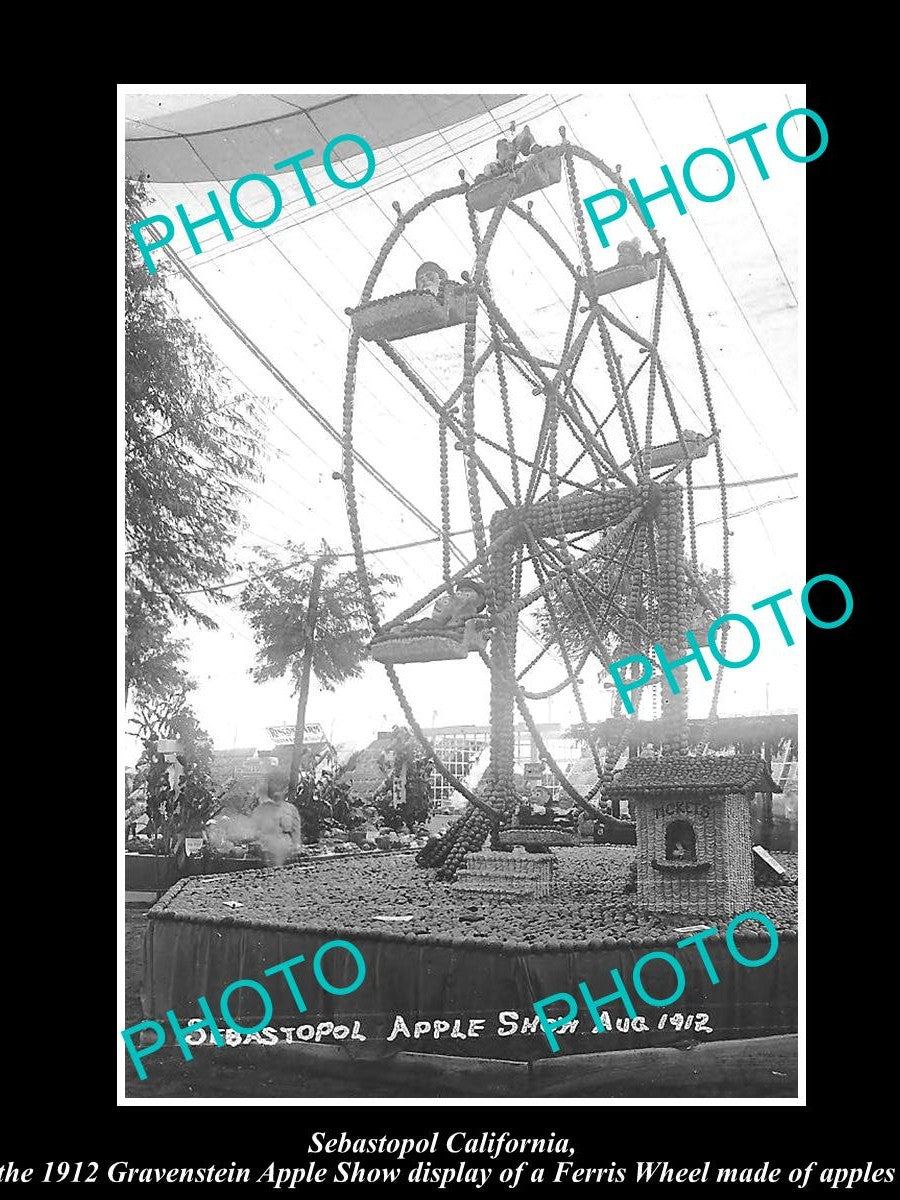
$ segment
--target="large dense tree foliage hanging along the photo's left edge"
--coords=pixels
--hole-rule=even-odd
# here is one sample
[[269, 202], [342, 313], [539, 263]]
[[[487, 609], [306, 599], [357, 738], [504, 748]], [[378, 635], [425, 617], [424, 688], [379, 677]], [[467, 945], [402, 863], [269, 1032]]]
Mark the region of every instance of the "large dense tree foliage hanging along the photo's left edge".
[[[128, 223], [144, 200], [143, 185], [127, 182]], [[215, 628], [186, 593], [234, 570], [229, 551], [241, 527], [242, 485], [259, 479], [260, 432], [260, 402], [235, 392], [205, 338], [180, 316], [164, 269], [150, 275], [126, 230], [127, 684], [155, 686], [161, 654], [172, 666], [174, 620]]]

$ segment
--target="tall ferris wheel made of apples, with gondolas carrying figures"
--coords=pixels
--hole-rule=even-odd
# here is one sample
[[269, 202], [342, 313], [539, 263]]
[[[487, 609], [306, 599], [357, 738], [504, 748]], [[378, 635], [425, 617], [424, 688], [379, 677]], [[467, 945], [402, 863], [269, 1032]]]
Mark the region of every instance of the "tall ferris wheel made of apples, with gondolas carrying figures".
[[[516, 710], [559, 787], [596, 815], [592, 800], [604, 784], [596, 743], [588, 738], [596, 782], [582, 794], [544, 744], [529, 701], [571, 689], [587, 732], [582, 671], [589, 660], [608, 667], [612, 660], [648, 654], [654, 643], [674, 660], [689, 648], [685, 631], [700, 625], [704, 635], [702, 626], [718, 614], [697, 559], [694, 463], [701, 458], [715, 469], [720, 509], [715, 521], [721, 521], [716, 570], [724, 611], [728, 602], [722, 450], [700, 335], [682, 281], [665, 239], [646, 226], [620, 170], [568, 140], [565, 128], [559, 136], [558, 144], [540, 146], [528, 127], [516, 133], [512, 126], [498, 142], [497, 160], [474, 182], [467, 182], [461, 170], [461, 182], [425, 196], [406, 212], [395, 202], [397, 222], [359, 304], [347, 310], [352, 330], [342, 479], [356, 571], [377, 631], [372, 655], [384, 664], [407, 721], [434, 755], [436, 770], [467, 797], [475, 816], [492, 822], [516, 803]], [[590, 173], [584, 182], [595, 190], [596, 172], [628, 196], [641, 221], [641, 236], [620, 242], [617, 262], [602, 270], [593, 265], [578, 182], [580, 173]], [[563, 215], [551, 196], [562, 198], [565, 192]], [[533, 200], [518, 203], [529, 193], [536, 193], [540, 209]], [[377, 295], [389, 257], [401, 240], [415, 248], [414, 222], [434, 206], [440, 206], [442, 220], [457, 240], [468, 241], [469, 269], [450, 278], [439, 264], [420, 262], [414, 288]], [[516, 264], [528, 269], [539, 257], [557, 302], [521, 316], [517, 310], [529, 294]], [[618, 295], [624, 289], [632, 289], [628, 296], [636, 298], [641, 313], [624, 312]], [[546, 300], [545, 283], [540, 298]], [[440, 332], [457, 326], [462, 338], [458, 331]], [[677, 383], [662, 352], [667, 335], [679, 344]], [[413, 337], [416, 359], [403, 353], [404, 340]], [[380, 625], [354, 484], [362, 341], [400, 372], [434, 418], [434, 484], [442, 514], [440, 582]], [[430, 378], [440, 373], [438, 359], [444, 379], [451, 364], [452, 383], [443, 394], [425, 378], [422, 362], [432, 353]], [[475, 541], [475, 556], [456, 569], [454, 556], [464, 556], [451, 536], [455, 455], [462, 458], [456, 492], [464, 490]], [[517, 634], [534, 606], [544, 636], [538, 653], [521, 662]], [[434, 754], [397, 672], [403, 664], [469, 654], [484, 661], [491, 689], [490, 764], [478, 792]], [[562, 678], [536, 691], [529, 688], [529, 673], [545, 660], [558, 662]], [[686, 750], [683, 670], [677, 678], [678, 695], [664, 697], [661, 688], [656, 694], [666, 728], [664, 752]], [[721, 667], [710, 715], [720, 679]], [[618, 758], [618, 751], [611, 754], [607, 763]]]

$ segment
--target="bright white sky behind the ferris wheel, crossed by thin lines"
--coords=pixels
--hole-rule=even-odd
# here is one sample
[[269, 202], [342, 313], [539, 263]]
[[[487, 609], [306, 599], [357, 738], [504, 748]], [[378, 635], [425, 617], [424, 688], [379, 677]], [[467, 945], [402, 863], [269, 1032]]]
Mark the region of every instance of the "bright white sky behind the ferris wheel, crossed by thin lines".
[[[629, 91], [637, 101], [640, 115]], [[588, 94], [572, 86], [554, 91], [552, 97], [546, 92], [523, 96], [494, 110], [494, 115], [504, 127], [510, 115], [515, 115], [520, 127], [527, 121], [541, 144], [556, 143], [559, 125], [565, 125], [572, 142], [612, 167], [622, 163], [626, 180], [636, 176], [644, 191], [652, 192], [664, 186], [659, 170], [662, 161], [670, 164], [676, 180], [680, 180], [682, 163], [691, 151], [704, 145], [726, 149], [707, 92], [726, 136], [763, 121], [768, 124], [758, 144], [770, 178], [762, 181], [746, 148], [738, 146], [736, 158], [744, 181], [738, 179], [728, 197], [715, 204], [702, 204], [683, 190], [688, 216], [679, 216], [671, 199], [656, 202], [652, 211], [682, 277], [708, 355], [713, 402], [722, 431], [726, 478], [738, 480], [802, 472], [803, 397], [798, 382], [802, 310], [794, 305], [768, 239], [784, 264], [793, 292], [802, 298], [802, 259], [798, 256], [803, 244], [805, 168], [778, 150], [774, 127], [790, 107], [804, 103], [803, 89], [797, 85], [644, 85]], [[365, 98], [360, 102], [365, 103]], [[128, 110], [126, 101], [126, 113]], [[800, 122], [797, 124], [796, 131], [788, 127], [787, 136], [799, 152], [804, 131]], [[286, 208], [272, 226], [260, 232], [241, 228], [232, 242], [227, 242], [215, 227], [206, 226], [198, 232], [204, 244], [204, 253], [199, 257], [191, 252], [180, 232], [173, 247], [284, 374], [332, 425], [340, 427], [349, 328], [344, 308], [359, 301], [372, 262], [394, 224], [391, 200], [398, 200], [406, 210], [424, 194], [455, 185], [460, 166], [470, 174], [478, 173], [493, 157], [498, 136], [493, 115], [482, 114], [412, 144], [377, 150], [374, 176], [359, 191], [338, 191], [320, 167], [312, 167], [307, 175], [318, 198], [314, 209], [307, 208], [304, 200], [298, 203], [296, 182], [292, 187], [288, 176], [280, 175]], [[467, 149], [469, 146], [473, 148]], [[300, 149], [304, 148], [298, 146]], [[361, 162], [361, 157], [349, 160], [337, 169], [359, 169]], [[715, 191], [715, 170], [701, 173], [698, 166], [696, 184]], [[216, 188], [224, 200], [230, 181], [223, 182], [223, 187], [215, 181], [157, 185], [152, 188], [157, 203], [149, 211], [174, 215], [175, 204], [184, 203], [188, 214], [205, 215], [209, 211], [206, 191]], [[582, 196], [610, 186], [584, 163], [578, 164], [578, 182]], [[534, 199], [538, 220], [577, 265], [565, 181], [535, 192], [529, 199]], [[247, 211], [269, 211], [266, 204], [270, 202], [262, 196], [254, 208], [250, 187], [242, 191], [241, 203]], [[482, 230], [487, 217], [490, 214], [481, 218]], [[629, 217], [628, 224], [623, 220], [608, 229], [613, 246], [638, 232], [634, 217]], [[588, 238], [595, 268], [614, 263], [616, 251], [604, 251], [589, 224]], [[472, 266], [474, 254], [460, 198], [443, 202], [419, 217], [408, 230], [408, 241], [401, 240], [388, 259], [376, 286], [376, 296], [412, 287], [415, 266], [425, 259], [440, 263], [455, 278], [461, 270]], [[646, 234], [642, 246], [653, 248]], [[497, 301], [522, 340], [541, 356], [558, 356], [571, 302], [568, 272], [536, 234], [509, 215], [488, 265]], [[241, 534], [239, 557], [247, 560], [251, 547], [257, 544], [277, 552], [288, 538], [310, 546], [325, 538], [334, 548], [349, 550], [342, 487], [331, 479], [331, 472], [341, 466], [340, 446], [287, 396], [190, 287], [178, 281], [175, 290], [181, 312], [197, 322], [227, 368], [248, 390], [274, 401], [266, 433], [266, 478], [263, 485], [253, 487], [258, 496], [247, 498], [246, 529]], [[647, 283], [606, 298], [606, 302], [616, 311], [612, 301], [618, 301], [619, 316], [624, 313], [649, 336], [654, 295], [655, 284]], [[682, 424], [708, 432], [690, 340], [673, 300], [673, 293], [667, 295], [664, 308], [662, 358], [676, 389]], [[460, 382], [462, 328], [406, 340], [396, 346], [439, 398]], [[372, 350], [364, 343], [354, 444], [414, 504], [439, 522], [436, 422], [412, 386], [398, 378], [394, 366], [379, 359], [377, 348]], [[637, 361], [634, 359], [635, 365]], [[624, 366], [628, 370], [628, 359]], [[598, 349], [586, 352], [576, 380], [592, 407], [605, 414], [611, 404], [610, 385]], [[530, 457], [541, 401], [533, 397], [521, 380], [511, 383], [510, 389], [518, 449]], [[496, 376], [486, 371], [476, 390], [480, 414], [476, 427], [488, 434], [502, 430], [496, 395]], [[662, 406], [662, 397], [659, 404]], [[695, 416], [695, 412], [700, 415]], [[641, 428], [641, 414], [637, 420]], [[659, 430], [654, 442], [668, 440], [671, 425], [662, 422], [654, 428]], [[472, 522], [463, 487], [462, 456], [452, 451], [452, 442], [451, 455], [452, 527], [461, 529]], [[500, 457], [490, 455], [491, 451], [486, 451], [485, 457], [492, 469], [502, 480], [508, 480], [509, 470]], [[560, 463], [571, 457], [574, 454], [569, 455], [560, 445]], [[587, 475], [581, 478], [587, 479]], [[355, 479], [366, 547], [428, 536], [428, 530], [359, 467]], [[715, 481], [712, 452], [696, 464], [695, 481]], [[730, 488], [731, 511], [740, 512], [780, 497], [798, 496], [799, 482]], [[494, 500], [484, 486], [481, 499], [485, 516], [490, 517]], [[718, 516], [715, 491], [697, 493], [696, 515], [700, 522]], [[804, 624], [799, 608], [799, 590], [805, 582], [802, 500], [738, 516], [732, 530], [731, 558], [736, 578], [732, 610], [750, 614], [755, 600], [793, 588], [794, 596], [786, 602], [785, 612], [798, 636], [798, 646], [785, 647], [770, 616], [761, 618], [760, 656], [748, 667], [726, 671], [720, 712], [796, 709], [800, 695], [799, 640]], [[715, 565], [720, 562], [720, 526], [703, 526], [698, 538], [701, 560]], [[470, 536], [457, 539], [457, 545], [467, 557], [472, 554]], [[437, 544], [373, 556], [370, 562], [376, 570], [402, 576], [397, 599], [386, 610], [388, 616], [430, 590], [440, 578]], [[352, 559], [347, 565], [352, 565]], [[242, 574], [235, 571], [235, 576]], [[239, 593], [239, 588], [229, 589], [235, 601]], [[218, 748], [265, 745], [268, 725], [293, 720], [295, 701], [290, 688], [286, 680], [262, 686], [253, 684], [250, 670], [254, 647], [236, 604], [215, 610], [210, 606], [210, 611], [220, 623], [218, 631], [186, 631], [191, 641], [190, 668], [199, 683], [192, 701], [194, 708]], [[743, 646], [737, 632], [732, 637], [736, 648]], [[526, 655], [530, 658], [533, 644], [521, 638], [520, 646], [520, 661], [524, 661]], [[463, 662], [408, 666], [400, 673], [424, 725], [487, 720], [487, 673], [474, 655]], [[562, 667], [551, 661], [529, 677], [529, 686], [546, 688], [560, 677]], [[600, 686], [596, 671], [586, 670], [583, 678], [588, 715], [592, 719], [608, 715], [610, 692]], [[696, 673], [692, 678], [696, 682], [692, 682], [691, 714], [702, 715], [713, 685], [704, 684]], [[649, 714], [649, 702], [646, 703]], [[550, 702], [536, 702], [533, 712], [539, 721], [577, 720], [571, 692]], [[335, 694], [323, 692], [313, 684], [307, 720], [320, 721], [336, 742], [361, 744], [376, 730], [401, 722], [402, 713], [383, 668], [371, 664], [361, 679], [344, 684]]]

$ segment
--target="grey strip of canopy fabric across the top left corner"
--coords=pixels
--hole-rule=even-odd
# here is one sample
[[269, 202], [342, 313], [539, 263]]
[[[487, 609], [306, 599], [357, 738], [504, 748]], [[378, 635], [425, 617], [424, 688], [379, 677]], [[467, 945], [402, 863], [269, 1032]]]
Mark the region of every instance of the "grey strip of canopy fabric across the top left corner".
[[[125, 173], [161, 184], [274, 174], [274, 163], [304, 150], [313, 150], [312, 161], [320, 162], [325, 144], [342, 133], [354, 133], [377, 150], [515, 98], [515, 94], [128, 96]], [[355, 142], [343, 142], [331, 158], [359, 152]]]

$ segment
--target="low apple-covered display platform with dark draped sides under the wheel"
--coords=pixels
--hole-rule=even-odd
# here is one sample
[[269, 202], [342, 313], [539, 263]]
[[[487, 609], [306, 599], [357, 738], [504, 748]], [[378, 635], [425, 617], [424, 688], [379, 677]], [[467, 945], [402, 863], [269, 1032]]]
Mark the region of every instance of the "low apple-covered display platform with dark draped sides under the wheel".
[[[790, 886], [755, 889], [751, 907], [779, 931], [775, 956], [764, 966], [737, 962], [720, 932], [707, 940], [720, 977], [714, 985], [696, 949], [676, 949], [690, 928], [709, 925], [685, 914], [641, 913], [628, 893], [629, 846], [581, 846], [556, 851], [559, 886], [553, 895], [509, 901], [461, 896], [408, 854], [318, 860], [240, 875], [198, 876], [175, 884], [149, 913], [143, 1003], [145, 1015], [182, 1024], [199, 1018], [197, 997], [214, 1010], [238, 979], [265, 982], [274, 1014], [258, 1034], [232, 1034], [232, 1044], [308, 1042], [341, 1045], [371, 1058], [400, 1051], [479, 1056], [505, 1061], [568, 1054], [653, 1049], [790, 1034], [797, 1030], [796, 858], [781, 854]], [[362, 984], [346, 996], [322, 990], [312, 961], [325, 942], [352, 942], [366, 964]], [[768, 940], [740, 926], [736, 947], [748, 959], [764, 955]], [[638, 998], [631, 985], [636, 961], [667, 950], [685, 973], [683, 995], [665, 1008]], [[307, 1006], [298, 1013], [283, 973], [266, 967], [296, 955], [294, 976]], [[324, 971], [334, 986], [356, 977], [352, 956], [330, 950]], [[614, 990], [619, 971], [638, 1013], [631, 1021], [617, 1001], [601, 1006], [602, 1031], [583, 1003], [577, 1025], [559, 1031], [552, 1055], [533, 1004], [557, 992], [578, 996], [584, 980], [595, 997]], [[672, 991], [672, 968], [652, 961], [643, 971], [650, 995]], [[260, 1001], [250, 988], [232, 995], [240, 1024], [259, 1021]], [[608, 1021], [608, 1028], [606, 1027]], [[224, 1021], [222, 1021], [224, 1028]], [[198, 1031], [196, 1042], [205, 1042]]]

